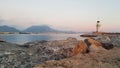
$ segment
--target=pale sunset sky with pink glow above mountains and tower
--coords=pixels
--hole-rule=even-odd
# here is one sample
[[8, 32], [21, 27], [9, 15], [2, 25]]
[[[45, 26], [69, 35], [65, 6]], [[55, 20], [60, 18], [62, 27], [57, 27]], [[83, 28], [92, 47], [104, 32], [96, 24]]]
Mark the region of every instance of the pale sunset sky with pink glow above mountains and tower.
[[120, 32], [120, 0], [0, 0], [0, 25]]

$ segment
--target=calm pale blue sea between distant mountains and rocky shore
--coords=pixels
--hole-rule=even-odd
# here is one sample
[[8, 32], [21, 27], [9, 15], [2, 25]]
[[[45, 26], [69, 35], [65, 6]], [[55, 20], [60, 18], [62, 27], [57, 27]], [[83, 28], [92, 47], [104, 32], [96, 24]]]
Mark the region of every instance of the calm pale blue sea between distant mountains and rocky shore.
[[77, 39], [83, 39], [80, 34], [0, 34], [0, 39], [7, 42], [24, 44], [27, 42], [41, 41], [41, 40], [64, 40], [68, 37], [74, 37]]

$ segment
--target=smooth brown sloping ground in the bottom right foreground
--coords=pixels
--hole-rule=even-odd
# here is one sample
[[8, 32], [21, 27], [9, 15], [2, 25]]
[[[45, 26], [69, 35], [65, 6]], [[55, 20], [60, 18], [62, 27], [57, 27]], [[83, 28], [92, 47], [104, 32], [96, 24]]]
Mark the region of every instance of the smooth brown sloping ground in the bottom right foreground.
[[50, 60], [34, 68], [120, 68], [120, 48], [109, 51], [78, 54], [59, 61]]

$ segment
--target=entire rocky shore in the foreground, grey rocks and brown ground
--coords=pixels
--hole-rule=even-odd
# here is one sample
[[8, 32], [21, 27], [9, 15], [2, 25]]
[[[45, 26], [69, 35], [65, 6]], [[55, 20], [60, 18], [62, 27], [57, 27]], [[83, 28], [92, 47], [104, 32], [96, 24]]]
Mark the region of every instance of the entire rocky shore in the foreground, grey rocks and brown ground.
[[84, 40], [0, 41], [0, 68], [120, 68], [120, 35]]

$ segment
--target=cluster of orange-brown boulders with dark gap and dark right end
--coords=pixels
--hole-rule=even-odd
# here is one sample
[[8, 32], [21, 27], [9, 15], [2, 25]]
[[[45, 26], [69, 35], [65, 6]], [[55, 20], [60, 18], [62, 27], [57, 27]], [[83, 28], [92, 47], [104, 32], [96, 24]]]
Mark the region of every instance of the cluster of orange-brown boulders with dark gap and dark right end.
[[88, 38], [84, 41], [79, 41], [77, 45], [73, 48], [73, 55], [79, 53], [88, 53], [88, 52], [98, 52], [106, 51], [106, 49], [112, 49], [114, 46], [111, 43], [102, 43], [97, 41], [94, 38]]

